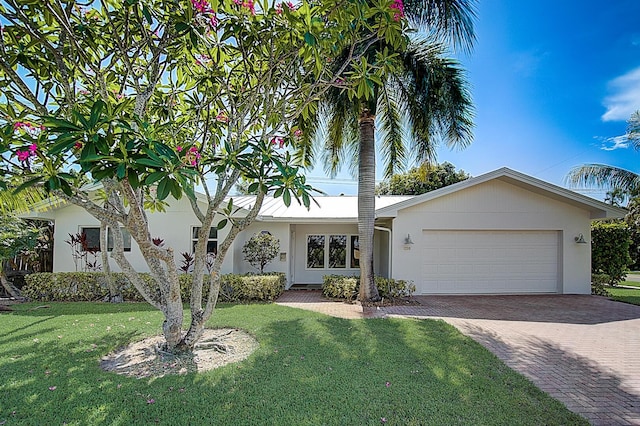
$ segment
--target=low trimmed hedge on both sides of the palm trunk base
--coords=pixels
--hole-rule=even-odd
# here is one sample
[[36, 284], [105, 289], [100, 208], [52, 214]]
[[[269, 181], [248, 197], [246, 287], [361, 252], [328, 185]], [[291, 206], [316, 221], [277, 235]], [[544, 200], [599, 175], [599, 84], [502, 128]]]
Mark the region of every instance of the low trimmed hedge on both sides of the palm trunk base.
[[[378, 294], [385, 299], [411, 297], [416, 286], [409, 281], [375, 277]], [[322, 294], [334, 299], [355, 300], [360, 289], [360, 277], [325, 275], [322, 277]]]

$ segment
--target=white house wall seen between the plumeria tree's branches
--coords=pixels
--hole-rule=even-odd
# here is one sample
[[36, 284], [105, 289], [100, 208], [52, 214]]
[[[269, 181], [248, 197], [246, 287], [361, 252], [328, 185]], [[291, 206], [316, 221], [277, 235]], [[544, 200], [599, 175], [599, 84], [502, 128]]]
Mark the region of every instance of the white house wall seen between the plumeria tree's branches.
[[[168, 202], [170, 205], [165, 212], [149, 213], [149, 229], [153, 238], [162, 238], [165, 246], [173, 247], [176, 264], [180, 266], [182, 262], [181, 253], [191, 252], [191, 229], [194, 226], [199, 226], [199, 221], [193, 214], [191, 206], [185, 198], [179, 201], [171, 198]], [[75, 271], [71, 248], [65, 241], [69, 239], [69, 234], [77, 234], [80, 232], [80, 228], [97, 227], [100, 226], [100, 223], [84, 209], [74, 205], [68, 205], [55, 210], [53, 219], [55, 220], [53, 271]], [[216, 222], [217, 220], [214, 224]], [[220, 244], [227, 233], [227, 229], [218, 231], [218, 244]], [[125, 256], [137, 271], [149, 271], [142, 257], [142, 253], [133, 238], [131, 239], [131, 251], [125, 252]], [[233, 258], [234, 252], [233, 250], [229, 250], [222, 265], [222, 273], [233, 271]], [[120, 271], [120, 268], [118, 268], [118, 265], [113, 259], [111, 259], [110, 264], [114, 272]]]

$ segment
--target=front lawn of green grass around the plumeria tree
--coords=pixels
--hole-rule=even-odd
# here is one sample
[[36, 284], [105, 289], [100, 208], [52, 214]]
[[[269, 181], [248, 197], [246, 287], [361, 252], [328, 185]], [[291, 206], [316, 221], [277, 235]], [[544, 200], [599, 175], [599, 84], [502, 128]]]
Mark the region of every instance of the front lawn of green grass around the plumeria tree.
[[221, 306], [208, 325], [252, 333], [260, 342], [252, 356], [207, 373], [134, 379], [102, 371], [100, 358], [157, 334], [158, 312], [34, 306], [0, 315], [0, 424], [587, 424], [441, 321]]

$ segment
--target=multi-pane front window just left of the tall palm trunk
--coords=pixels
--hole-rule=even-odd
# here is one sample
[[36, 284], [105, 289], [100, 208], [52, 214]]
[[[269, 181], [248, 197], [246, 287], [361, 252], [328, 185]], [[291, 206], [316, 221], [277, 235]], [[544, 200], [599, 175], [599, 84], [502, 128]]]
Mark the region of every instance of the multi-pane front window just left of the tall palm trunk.
[[307, 269], [360, 267], [357, 235], [307, 235]]

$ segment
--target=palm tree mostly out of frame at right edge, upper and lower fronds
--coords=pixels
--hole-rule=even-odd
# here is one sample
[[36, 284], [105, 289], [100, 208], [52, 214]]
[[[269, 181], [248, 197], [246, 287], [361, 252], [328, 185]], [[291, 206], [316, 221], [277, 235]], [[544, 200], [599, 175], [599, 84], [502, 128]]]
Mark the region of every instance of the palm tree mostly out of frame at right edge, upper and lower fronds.
[[[627, 122], [626, 139], [635, 149], [640, 150], [640, 111], [631, 114]], [[567, 180], [572, 185], [588, 185], [624, 191], [627, 194], [640, 192], [640, 175], [630, 170], [606, 164], [583, 164], [574, 167]]]

